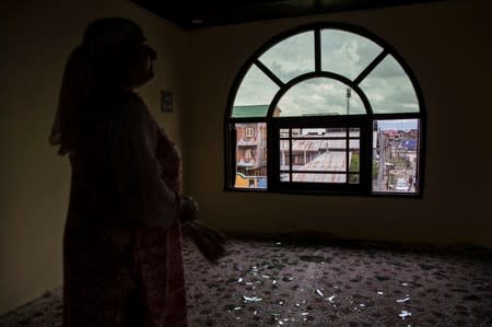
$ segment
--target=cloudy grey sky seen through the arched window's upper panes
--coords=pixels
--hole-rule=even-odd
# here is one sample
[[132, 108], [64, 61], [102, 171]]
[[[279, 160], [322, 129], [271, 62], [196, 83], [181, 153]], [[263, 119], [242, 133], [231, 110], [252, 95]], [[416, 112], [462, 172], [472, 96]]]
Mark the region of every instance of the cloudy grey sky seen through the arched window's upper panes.
[[[321, 31], [321, 69], [351, 80], [382, 50], [377, 44], [356, 34], [339, 30]], [[258, 59], [284, 83], [314, 71], [314, 33], [304, 32], [281, 40]], [[375, 113], [419, 110], [410, 79], [390, 55], [359, 86]], [[303, 81], [288, 90], [280, 100], [281, 116], [347, 114], [347, 89], [345, 84], [327, 78]], [[279, 86], [253, 65], [241, 83], [234, 105], [268, 105], [278, 91]], [[353, 90], [349, 107], [351, 114], [365, 112]]]

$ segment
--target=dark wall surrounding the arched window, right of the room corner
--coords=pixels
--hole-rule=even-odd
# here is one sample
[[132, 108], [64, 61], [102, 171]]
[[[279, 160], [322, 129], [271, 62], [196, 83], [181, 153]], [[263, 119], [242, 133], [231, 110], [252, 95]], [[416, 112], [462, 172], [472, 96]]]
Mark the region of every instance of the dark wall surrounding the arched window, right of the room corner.
[[[492, 246], [490, 12], [484, 0], [445, 1], [194, 33], [185, 188], [200, 201], [203, 218], [225, 231], [316, 230], [348, 238]], [[363, 26], [391, 44], [415, 73], [429, 112], [423, 199], [223, 190], [224, 112], [237, 71], [272, 36], [311, 22]]]

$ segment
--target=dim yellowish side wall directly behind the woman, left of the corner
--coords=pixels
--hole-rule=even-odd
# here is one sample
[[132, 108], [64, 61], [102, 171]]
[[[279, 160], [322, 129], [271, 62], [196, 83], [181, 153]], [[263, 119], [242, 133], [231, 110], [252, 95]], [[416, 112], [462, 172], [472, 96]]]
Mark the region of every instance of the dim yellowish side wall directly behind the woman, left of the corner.
[[62, 282], [61, 241], [69, 163], [48, 144], [62, 69], [84, 27], [102, 16], [133, 19], [159, 52], [157, 78], [141, 90], [180, 145], [177, 114], [159, 113], [175, 92], [184, 33], [130, 1], [0, 2], [0, 314]]

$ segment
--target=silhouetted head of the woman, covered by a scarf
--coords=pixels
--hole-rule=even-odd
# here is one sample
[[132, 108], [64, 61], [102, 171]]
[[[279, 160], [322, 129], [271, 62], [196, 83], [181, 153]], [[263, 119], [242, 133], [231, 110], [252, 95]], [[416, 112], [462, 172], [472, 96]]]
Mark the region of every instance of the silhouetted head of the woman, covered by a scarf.
[[142, 28], [122, 17], [101, 19], [85, 30], [82, 49], [99, 87], [139, 87], [154, 77], [155, 51]]

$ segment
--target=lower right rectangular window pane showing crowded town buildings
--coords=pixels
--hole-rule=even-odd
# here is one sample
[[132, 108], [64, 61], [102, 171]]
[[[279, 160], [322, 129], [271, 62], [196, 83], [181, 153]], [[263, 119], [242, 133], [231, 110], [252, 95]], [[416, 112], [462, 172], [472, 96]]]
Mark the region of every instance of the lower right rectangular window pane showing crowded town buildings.
[[376, 129], [373, 191], [418, 192], [419, 120], [376, 120]]

